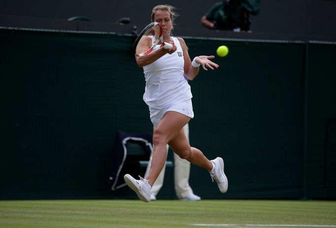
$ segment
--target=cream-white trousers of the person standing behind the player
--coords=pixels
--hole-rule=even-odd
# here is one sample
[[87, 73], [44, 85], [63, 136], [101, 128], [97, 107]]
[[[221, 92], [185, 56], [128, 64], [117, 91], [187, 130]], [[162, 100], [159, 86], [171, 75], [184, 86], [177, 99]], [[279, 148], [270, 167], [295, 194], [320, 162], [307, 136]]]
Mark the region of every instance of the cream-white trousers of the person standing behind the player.
[[[186, 126], [183, 127], [183, 130], [186, 134], [186, 137], [189, 141], [189, 125], [186, 124]], [[167, 152], [168, 152], [169, 146], [167, 145]], [[168, 154], [168, 153], [167, 153]], [[175, 185], [175, 192], [176, 196], [178, 198], [184, 198], [187, 195], [193, 194], [193, 190], [189, 186], [189, 175], [190, 175], [190, 163], [185, 160], [181, 159], [178, 155], [173, 153], [174, 155], [174, 185]], [[153, 154], [151, 154], [148, 166], [146, 169], [145, 177], [148, 175], [150, 166], [152, 163], [152, 157]], [[161, 173], [158, 176], [158, 179], [154, 182], [154, 185], [152, 187], [153, 195], [158, 195], [160, 189], [163, 186], [164, 183], [164, 177], [165, 177], [165, 170], [166, 170], [166, 164], [164, 168], [162, 169]]]

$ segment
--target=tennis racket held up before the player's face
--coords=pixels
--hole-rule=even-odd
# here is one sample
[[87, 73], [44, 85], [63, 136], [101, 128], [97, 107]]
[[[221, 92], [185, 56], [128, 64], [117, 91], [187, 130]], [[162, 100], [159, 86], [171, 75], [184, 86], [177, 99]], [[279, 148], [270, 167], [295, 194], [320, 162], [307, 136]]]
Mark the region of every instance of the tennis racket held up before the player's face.
[[145, 56], [152, 51], [164, 47], [170, 49], [172, 45], [163, 41], [161, 24], [153, 22], [147, 25], [134, 42], [135, 55]]

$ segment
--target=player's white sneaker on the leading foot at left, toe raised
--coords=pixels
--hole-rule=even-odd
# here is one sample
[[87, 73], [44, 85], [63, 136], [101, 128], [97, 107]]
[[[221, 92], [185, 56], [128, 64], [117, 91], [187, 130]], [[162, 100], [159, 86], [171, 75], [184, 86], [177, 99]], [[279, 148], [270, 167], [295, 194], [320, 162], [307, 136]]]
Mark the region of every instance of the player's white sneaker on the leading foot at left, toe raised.
[[[139, 176], [140, 177], [140, 176]], [[140, 177], [140, 180], [135, 180], [130, 174], [124, 176], [126, 184], [136, 193], [137, 197], [148, 203], [150, 195], [152, 195], [152, 187], [146, 179]]]

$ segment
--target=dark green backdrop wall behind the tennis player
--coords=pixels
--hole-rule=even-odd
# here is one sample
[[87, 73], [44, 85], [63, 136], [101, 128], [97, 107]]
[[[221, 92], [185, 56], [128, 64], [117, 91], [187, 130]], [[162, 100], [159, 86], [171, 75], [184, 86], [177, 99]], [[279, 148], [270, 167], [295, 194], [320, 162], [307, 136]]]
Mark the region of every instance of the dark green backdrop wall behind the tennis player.
[[[133, 36], [0, 30], [0, 199], [134, 198], [110, 191], [117, 130], [151, 131]], [[185, 38], [214, 55], [190, 82], [191, 144], [225, 160], [220, 194], [192, 165], [202, 198], [336, 198], [335, 44]], [[168, 159], [171, 160], [171, 154]], [[170, 175], [171, 176], [171, 175]], [[175, 197], [167, 178], [161, 198]]]

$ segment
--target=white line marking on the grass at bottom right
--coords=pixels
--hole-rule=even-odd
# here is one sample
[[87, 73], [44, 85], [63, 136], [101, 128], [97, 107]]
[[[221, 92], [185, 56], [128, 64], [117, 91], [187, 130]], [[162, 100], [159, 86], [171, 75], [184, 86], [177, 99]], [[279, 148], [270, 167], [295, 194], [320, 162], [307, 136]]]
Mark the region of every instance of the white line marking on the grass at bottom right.
[[336, 225], [300, 225], [300, 224], [202, 224], [195, 223], [191, 226], [198, 227], [336, 227]]

